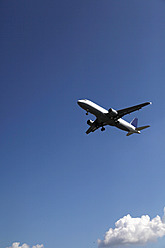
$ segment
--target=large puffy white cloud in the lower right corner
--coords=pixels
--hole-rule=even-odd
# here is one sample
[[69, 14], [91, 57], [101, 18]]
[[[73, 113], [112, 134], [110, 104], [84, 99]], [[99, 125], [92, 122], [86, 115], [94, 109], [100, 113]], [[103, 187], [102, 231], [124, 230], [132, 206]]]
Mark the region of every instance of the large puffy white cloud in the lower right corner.
[[[164, 208], [165, 212], [165, 208]], [[104, 240], [98, 239], [99, 247], [115, 247], [125, 245], [144, 245], [165, 236], [165, 213], [163, 219], [157, 215], [152, 220], [148, 215], [132, 218], [129, 214], [115, 223], [115, 229], [110, 228]]]

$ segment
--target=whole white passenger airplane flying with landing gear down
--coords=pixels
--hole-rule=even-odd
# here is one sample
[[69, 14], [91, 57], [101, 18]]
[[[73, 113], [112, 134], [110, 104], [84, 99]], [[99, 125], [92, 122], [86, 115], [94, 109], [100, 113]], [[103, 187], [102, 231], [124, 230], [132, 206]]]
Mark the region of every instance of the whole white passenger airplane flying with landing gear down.
[[149, 104], [152, 104], [151, 102], [145, 102], [139, 105], [135, 105], [129, 108], [124, 108], [120, 110], [115, 110], [113, 108], [110, 108], [109, 110], [106, 110], [96, 103], [88, 100], [88, 99], [83, 99], [83, 100], [78, 100], [77, 101], [78, 105], [83, 108], [86, 111], [86, 115], [88, 113], [91, 113], [96, 116], [96, 120], [88, 120], [87, 124], [90, 126], [89, 129], [86, 131], [86, 134], [89, 134], [91, 132], [96, 131], [98, 128], [101, 127], [101, 131], [105, 131], [106, 125], [110, 126], [115, 126], [121, 130], [124, 130], [127, 133], [127, 136], [138, 133], [140, 134], [141, 130], [150, 127], [149, 125], [147, 126], [142, 126], [138, 127], [138, 119], [134, 118], [130, 123], [123, 120], [122, 117], [124, 115], [130, 114], [136, 110], [139, 110], [143, 108], [144, 106], [147, 106]]

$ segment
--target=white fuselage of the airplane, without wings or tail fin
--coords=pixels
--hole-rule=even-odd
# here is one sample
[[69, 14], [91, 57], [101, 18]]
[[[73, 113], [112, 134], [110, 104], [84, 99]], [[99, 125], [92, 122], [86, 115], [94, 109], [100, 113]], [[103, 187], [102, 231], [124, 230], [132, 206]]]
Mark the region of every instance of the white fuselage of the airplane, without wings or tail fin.
[[136, 128], [127, 121], [121, 118], [115, 121], [114, 118], [110, 118], [108, 116], [109, 113], [108, 110], [100, 107], [99, 105], [91, 102], [90, 100], [86, 100], [86, 99], [78, 100], [78, 105], [87, 112], [95, 115], [98, 118], [99, 122], [103, 124], [103, 126], [105, 125], [116, 126], [119, 129], [122, 129], [127, 132], [140, 133], [140, 131], [136, 130]]

